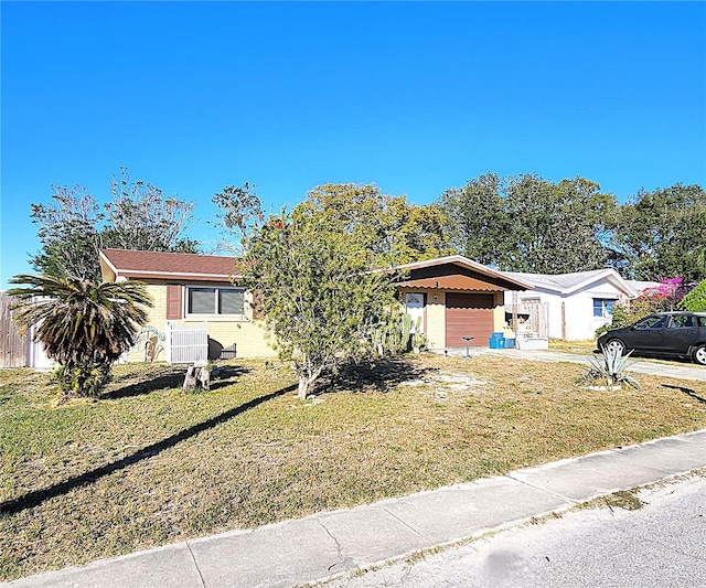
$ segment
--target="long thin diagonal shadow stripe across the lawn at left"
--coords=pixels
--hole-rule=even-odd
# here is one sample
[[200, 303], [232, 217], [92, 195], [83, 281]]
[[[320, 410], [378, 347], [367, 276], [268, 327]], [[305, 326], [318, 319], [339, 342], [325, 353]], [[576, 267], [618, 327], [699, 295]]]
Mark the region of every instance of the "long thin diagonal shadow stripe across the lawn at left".
[[277, 398], [282, 394], [287, 394], [288, 392], [292, 392], [297, 389], [297, 385], [287, 386], [285, 388], [280, 388], [278, 391], [266, 394], [265, 396], [260, 396], [258, 398], [254, 398], [240, 406], [236, 406], [235, 408], [231, 408], [225, 413], [222, 413], [208, 420], [204, 420], [193, 427], [189, 427], [188, 429], [183, 429], [167, 439], [162, 439], [152, 445], [148, 445], [143, 447], [139, 451], [131, 453], [122, 459], [114, 461], [113, 463], [107, 463], [105, 466], [100, 466], [94, 470], [82, 473], [81, 475], [75, 475], [65, 480], [64, 482], [60, 482], [57, 484], [51, 485], [49, 488], [44, 488], [42, 490], [34, 490], [32, 492], [28, 492], [23, 496], [19, 496], [13, 500], [8, 500], [6, 502], [0, 502], [0, 516], [7, 514], [15, 514], [26, 509], [32, 509], [33, 506], [38, 506], [43, 502], [66, 494], [67, 492], [82, 488], [88, 484], [93, 484], [98, 481], [100, 478], [109, 475], [116, 471], [124, 470], [128, 466], [132, 466], [133, 463], [138, 463], [145, 459], [149, 459], [158, 453], [161, 453], [165, 449], [171, 449], [176, 443], [184, 441], [191, 437], [199, 435], [208, 429], [213, 429], [214, 427], [236, 417], [246, 410], [255, 408], [260, 404], [264, 404], [268, 400]]

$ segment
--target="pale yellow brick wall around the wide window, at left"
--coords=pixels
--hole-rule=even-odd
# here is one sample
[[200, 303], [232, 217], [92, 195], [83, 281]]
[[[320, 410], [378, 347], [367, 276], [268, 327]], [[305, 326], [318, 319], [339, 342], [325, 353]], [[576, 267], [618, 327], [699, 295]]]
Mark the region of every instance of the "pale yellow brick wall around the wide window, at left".
[[[204, 286], [218, 286], [217, 284], [204, 284]], [[223, 284], [221, 286], [229, 286]], [[149, 321], [146, 327], [153, 327], [160, 333], [167, 333], [167, 285], [148, 284], [147, 290], [152, 297], [154, 307], [148, 309]], [[183, 292], [182, 292], [183, 298]], [[238, 357], [272, 357], [277, 352], [268, 344], [265, 335], [263, 321], [253, 320], [253, 310], [247, 304], [249, 296], [246, 295], [246, 316], [244, 318], [218, 317], [218, 316], [192, 316], [178, 321], [181, 324], [206, 323], [208, 336], [217, 341], [224, 348], [235, 344]], [[157, 361], [164, 361], [165, 353], [162, 351]], [[137, 349], [128, 354], [128, 361], [145, 361], [145, 339], [140, 341]]]

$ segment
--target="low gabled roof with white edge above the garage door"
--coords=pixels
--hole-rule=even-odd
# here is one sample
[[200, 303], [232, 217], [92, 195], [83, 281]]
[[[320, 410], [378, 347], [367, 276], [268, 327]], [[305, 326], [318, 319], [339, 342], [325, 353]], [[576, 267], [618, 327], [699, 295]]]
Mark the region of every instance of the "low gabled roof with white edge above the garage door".
[[[488, 266], [484, 266], [483, 264], [473, 261], [472, 259], [469, 259], [468, 257], [464, 257], [462, 255], [449, 255], [447, 257], [436, 257], [434, 259], [427, 259], [425, 261], [415, 261], [413, 264], [405, 264], [403, 266], [398, 266], [395, 269], [400, 271], [414, 271], [418, 269], [434, 268], [435, 266], [446, 266], [446, 265], [459, 266], [461, 268], [470, 269], [472, 271], [475, 271], [477, 274], [481, 274], [490, 278], [503, 280], [505, 284], [510, 282], [511, 286], [518, 287], [515, 289], [522, 289], [522, 290], [533, 289], [532, 284], [524, 281], [521, 278], [509, 276], [507, 272], [492, 269]], [[473, 280], [473, 282], [477, 282], [477, 284], [473, 284], [470, 280]], [[434, 282], [434, 286], [430, 285], [432, 282]], [[437, 286], [437, 282], [438, 282], [438, 286]], [[498, 288], [498, 287], [489, 288], [490, 285], [482, 282], [480, 280], [474, 280], [470, 276], [462, 276], [462, 275], [425, 277], [425, 278], [404, 281], [398, 284], [398, 286], [411, 286], [415, 288], [440, 288], [440, 289], [448, 289], [448, 290], [457, 290], [457, 289], [458, 290], [477, 290], [477, 291], [478, 290], [501, 291], [504, 289], [504, 288]]]

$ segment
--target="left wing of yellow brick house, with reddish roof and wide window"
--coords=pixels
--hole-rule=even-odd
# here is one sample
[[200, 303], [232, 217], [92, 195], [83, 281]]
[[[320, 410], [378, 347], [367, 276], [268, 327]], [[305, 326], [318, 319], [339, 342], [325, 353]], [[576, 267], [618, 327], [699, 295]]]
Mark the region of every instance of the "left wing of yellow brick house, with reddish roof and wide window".
[[154, 307], [128, 361], [193, 361], [194, 348], [215, 360], [267, 357], [276, 352], [253, 317], [250, 293], [237, 286], [236, 258], [215, 255], [103, 249], [104, 281], [147, 284]]

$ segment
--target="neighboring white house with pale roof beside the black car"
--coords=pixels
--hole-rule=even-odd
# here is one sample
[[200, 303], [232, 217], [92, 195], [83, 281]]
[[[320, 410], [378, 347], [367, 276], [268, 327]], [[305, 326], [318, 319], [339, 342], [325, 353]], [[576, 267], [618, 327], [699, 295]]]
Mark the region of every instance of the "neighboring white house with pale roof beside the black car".
[[[614, 269], [575, 274], [523, 274], [503, 271], [509, 278], [530, 284], [533, 290], [505, 292], [505, 312], [528, 316], [527, 329], [549, 339], [593, 339], [596, 329], [612, 320], [613, 304], [637, 298], [638, 291]], [[537, 311], [538, 309], [538, 311]], [[542, 324], [532, 324], [541, 321]]]

